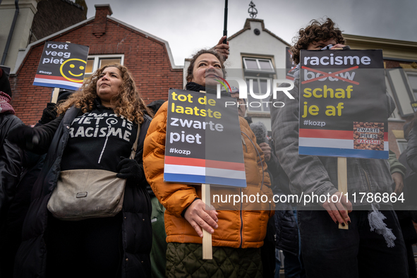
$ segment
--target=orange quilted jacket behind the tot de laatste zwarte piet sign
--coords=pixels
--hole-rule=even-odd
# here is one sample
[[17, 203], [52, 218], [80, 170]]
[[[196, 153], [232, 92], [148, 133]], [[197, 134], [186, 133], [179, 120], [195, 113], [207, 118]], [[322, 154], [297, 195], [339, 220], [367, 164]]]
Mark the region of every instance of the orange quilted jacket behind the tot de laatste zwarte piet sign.
[[[191, 186], [183, 183], [164, 182], [164, 154], [165, 138], [167, 131], [167, 107], [165, 102], [155, 115], [147, 130], [143, 150], [143, 167], [148, 183], [152, 187], [158, 200], [167, 209], [165, 211], [165, 230], [167, 231], [167, 242], [178, 243], [202, 243], [191, 224], [181, 217], [181, 212], [193, 203], [195, 198], [201, 198], [201, 186]], [[223, 194], [256, 195], [256, 193], [268, 195], [272, 200], [270, 188], [270, 177], [267, 174], [267, 166], [264, 162], [262, 150], [256, 144], [256, 138], [248, 126], [248, 122], [239, 117], [241, 131], [246, 133], [242, 136], [240, 143], [243, 147], [243, 157], [246, 170], [246, 188], [222, 188]], [[244, 140], [244, 143], [243, 143]], [[262, 163], [261, 163], [262, 161]], [[258, 166], [259, 165], [259, 166]], [[263, 165], [263, 184], [262, 166]], [[212, 190], [212, 194], [213, 190]], [[259, 248], [263, 245], [263, 239], [267, 231], [269, 217], [274, 214], [274, 203], [256, 203], [233, 206], [231, 204], [219, 204], [217, 212], [219, 215], [219, 227], [212, 234], [213, 246], [228, 246], [232, 248]], [[226, 208], [227, 210], [222, 210]], [[232, 209], [232, 210], [230, 210]]]

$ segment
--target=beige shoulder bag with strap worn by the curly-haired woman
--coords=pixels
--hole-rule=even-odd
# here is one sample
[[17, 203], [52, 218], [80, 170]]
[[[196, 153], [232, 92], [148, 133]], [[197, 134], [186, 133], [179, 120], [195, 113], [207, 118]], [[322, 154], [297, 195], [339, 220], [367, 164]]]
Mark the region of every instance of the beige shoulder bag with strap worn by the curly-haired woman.
[[[130, 159], [135, 159], [139, 133], [140, 125]], [[116, 174], [97, 169], [61, 171], [47, 205], [49, 212], [68, 221], [113, 217], [121, 211], [126, 186], [126, 179]]]

